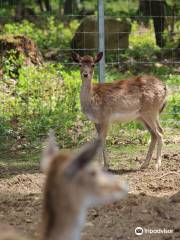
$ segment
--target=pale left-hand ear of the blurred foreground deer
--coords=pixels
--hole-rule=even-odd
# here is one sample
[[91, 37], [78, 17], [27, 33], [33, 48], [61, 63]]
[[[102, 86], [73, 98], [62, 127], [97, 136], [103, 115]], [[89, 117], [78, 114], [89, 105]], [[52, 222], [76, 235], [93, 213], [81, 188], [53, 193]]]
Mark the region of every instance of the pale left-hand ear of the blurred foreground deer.
[[40, 163], [41, 170], [47, 172], [53, 160], [53, 157], [59, 152], [59, 148], [56, 143], [54, 131], [49, 132], [49, 137], [45, 143], [45, 147], [42, 153], [42, 159]]

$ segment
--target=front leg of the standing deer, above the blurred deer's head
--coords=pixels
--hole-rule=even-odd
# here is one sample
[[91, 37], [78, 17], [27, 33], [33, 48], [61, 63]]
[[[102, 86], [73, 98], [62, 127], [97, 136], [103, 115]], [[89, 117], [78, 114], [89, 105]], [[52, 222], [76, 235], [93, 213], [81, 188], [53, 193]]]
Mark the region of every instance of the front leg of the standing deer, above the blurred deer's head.
[[108, 169], [108, 162], [107, 162], [107, 151], [106, 151], [106, 136], [107, 136], [107, 124], [100, 124], [96, 123], [95, 124], [98, 136], [102, 139], [103, 141], [103, 149], [102, 149], [102, 158], [104, 161], [104, 167]]

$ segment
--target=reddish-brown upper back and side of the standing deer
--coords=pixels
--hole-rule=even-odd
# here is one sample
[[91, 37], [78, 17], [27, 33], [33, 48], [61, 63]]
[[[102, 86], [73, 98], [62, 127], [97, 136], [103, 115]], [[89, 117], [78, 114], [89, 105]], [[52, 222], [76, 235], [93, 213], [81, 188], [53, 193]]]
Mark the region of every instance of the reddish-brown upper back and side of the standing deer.
[[140, 76], [127, 80], [114, 81], [112, 83], [100, 83], [93, 85], [93, 98], [103, 104], [108, 102], [111, 105], [120, 102], [127, 104], [134, 100], [152, 102], [154, 100], [163, 100], [166, 96], [165, 84], [158, 78], [152, 76]]

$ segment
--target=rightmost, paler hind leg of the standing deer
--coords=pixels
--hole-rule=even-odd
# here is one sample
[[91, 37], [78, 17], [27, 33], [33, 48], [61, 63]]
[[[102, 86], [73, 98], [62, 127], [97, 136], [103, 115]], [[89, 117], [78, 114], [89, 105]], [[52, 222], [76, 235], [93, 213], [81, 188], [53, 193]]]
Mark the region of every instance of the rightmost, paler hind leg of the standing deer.
[[153, 133], [156, 135], [157, 139], [157, 156], [155, 168], [158, 170], [161, 166], [161, 151], [163, 146], [162, 128], [157, 120], [157, 118], [152, 118], [149, 116], [143, 116], [143, 120], [152, 129]]

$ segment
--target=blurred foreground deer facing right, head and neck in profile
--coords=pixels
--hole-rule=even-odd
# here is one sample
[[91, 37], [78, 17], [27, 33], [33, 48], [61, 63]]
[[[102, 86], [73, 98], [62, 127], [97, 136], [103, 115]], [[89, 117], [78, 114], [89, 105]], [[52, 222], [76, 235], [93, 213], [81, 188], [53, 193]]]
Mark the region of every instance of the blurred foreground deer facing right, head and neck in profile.
[[[77, 154], [61, 153], [54, 136], [49, 136], [41, 161], [47, 173], [42, 240], [79, 240], [88, 207], [111, 203], [127, 194], [125, 182], [91, 163], [100, 148], [101, 140], [97, 139]], [[12, 229], [8, 232], [3, 227], [0, 232], [0, 240], [21, 239]]]

